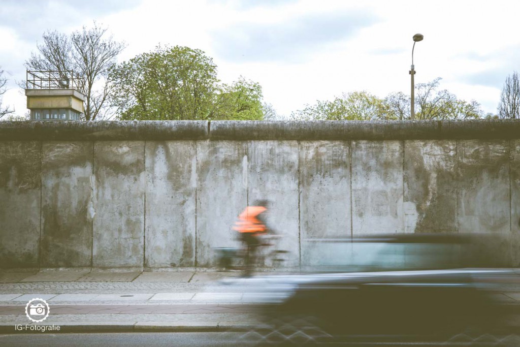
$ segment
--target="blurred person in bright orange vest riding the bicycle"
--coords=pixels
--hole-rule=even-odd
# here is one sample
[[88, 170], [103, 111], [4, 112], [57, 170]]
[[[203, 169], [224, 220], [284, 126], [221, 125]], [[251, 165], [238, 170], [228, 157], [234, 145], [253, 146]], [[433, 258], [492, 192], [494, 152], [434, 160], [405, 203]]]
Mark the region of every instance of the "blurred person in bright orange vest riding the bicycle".
[[246, 276], [250, 276], [253, 271], [257, 248], [262, 245], [260, 236], [269, 230], [265, 223], [267, 206], [267, 200], [256, 201], [254, 206], [248, 206], [240, 213], [238, 221], [233, 226], [233, 230], [239, 233], [239, 239], [244, 245]]

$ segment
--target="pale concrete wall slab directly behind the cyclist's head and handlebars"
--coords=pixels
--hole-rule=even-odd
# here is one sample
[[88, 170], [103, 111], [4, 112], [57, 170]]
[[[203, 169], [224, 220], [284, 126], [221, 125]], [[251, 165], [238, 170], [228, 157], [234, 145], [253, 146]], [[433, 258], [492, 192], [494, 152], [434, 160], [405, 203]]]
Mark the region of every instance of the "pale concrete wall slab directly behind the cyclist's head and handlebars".
[[[259, 266], [300, 265], [298, 159], [296, 141], [248, 143], [248, 204], [269, 200], [266, 223], [282, 236], [272, 246], [259, 249]], [[279, 258], [269, 254], [273, 250], [289, 251], [282, 256], [282, 264], [272, 261]]]

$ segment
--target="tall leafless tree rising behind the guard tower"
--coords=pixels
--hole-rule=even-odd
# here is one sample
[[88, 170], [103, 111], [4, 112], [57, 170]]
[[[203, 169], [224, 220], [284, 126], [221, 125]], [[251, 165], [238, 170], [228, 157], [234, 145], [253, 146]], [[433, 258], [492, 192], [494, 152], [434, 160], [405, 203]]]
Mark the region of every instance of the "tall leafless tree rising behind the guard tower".
[[110, 117], [109, 70], [117, 56], [126, 47], [122, 42], [107, 36], [107, 28], [94, 27], [75, 31], [70, 35], [57, 31], [43, 34], [43, 44], [37, 45], [25, 62], [29, 70], [73, 70], [82, 83], [80, 92], [85, 95], [85, 119], [99, 120]]

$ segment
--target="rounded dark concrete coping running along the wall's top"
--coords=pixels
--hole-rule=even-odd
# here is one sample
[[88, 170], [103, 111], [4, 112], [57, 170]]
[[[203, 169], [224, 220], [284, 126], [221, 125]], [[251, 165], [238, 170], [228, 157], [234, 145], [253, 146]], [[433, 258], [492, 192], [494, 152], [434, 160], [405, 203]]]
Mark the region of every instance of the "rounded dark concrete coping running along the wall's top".
[[520, 120], [0, 121], [0, 140], [516, 139]]

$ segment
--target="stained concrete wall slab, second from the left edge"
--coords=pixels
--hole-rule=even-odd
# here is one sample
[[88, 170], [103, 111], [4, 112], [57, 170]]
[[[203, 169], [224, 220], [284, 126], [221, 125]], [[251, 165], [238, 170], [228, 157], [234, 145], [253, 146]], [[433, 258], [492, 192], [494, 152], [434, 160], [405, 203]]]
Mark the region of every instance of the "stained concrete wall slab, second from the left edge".
[[42, 147], [42, 267], [92, 265], [93, 156], [90, 142]]

